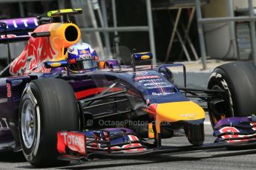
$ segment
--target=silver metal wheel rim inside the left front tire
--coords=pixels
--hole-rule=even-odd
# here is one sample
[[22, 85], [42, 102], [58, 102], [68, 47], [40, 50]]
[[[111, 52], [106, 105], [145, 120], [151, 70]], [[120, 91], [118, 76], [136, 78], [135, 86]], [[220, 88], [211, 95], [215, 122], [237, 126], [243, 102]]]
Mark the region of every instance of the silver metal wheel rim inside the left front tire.
[[33, 103], [30, 100], [25, 100], [22, 106], [22, 140], [27, 149], [33, 144], [36, 132], [36, 113]]

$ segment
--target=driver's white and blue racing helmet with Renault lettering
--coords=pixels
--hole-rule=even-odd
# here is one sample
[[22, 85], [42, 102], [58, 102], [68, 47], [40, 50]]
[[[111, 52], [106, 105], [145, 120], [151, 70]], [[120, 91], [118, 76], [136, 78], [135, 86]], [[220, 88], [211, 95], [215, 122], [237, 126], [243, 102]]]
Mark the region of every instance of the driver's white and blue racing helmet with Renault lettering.
[[90, 44], [77, 43], [68, 47], [68, 64], [71, 71], [92, 71], [98, 67], [98, 55]]

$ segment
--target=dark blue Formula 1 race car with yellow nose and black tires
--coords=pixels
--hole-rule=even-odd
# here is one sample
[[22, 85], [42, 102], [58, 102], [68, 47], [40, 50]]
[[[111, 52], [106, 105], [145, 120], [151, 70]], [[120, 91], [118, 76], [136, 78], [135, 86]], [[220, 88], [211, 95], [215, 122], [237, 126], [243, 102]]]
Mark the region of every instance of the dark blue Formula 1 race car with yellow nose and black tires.
[[[99, 61], [96, 71], [70, 72], [65, 54], [81, 33], [69, 16], [79, 13], [81, 9], [55, 10], [47, 13], [49, 18], [0, 21], [1, 43], [27, 40], [23, 52], [0, 73], [1, 150], [22, 149], [33, 166], [42, 167], [254, 141], [255, 65], [217, 67], [209, 89], [186, 88], [183, 64], [137, 67], [137, 62], [154, 57], [151, 52], [133, 52], [131, 66], [112, 59]], [[53, 22], [53, 17], [61, 22]], [[184, 87], [174, 84], [171, 67], [183, 67]], [[206, 111], [217, 136], [217, 144], [207, 146]], [[225, 130], [230, 126], [237, 131]], [[184, 129], [191, 147], [161, 145], [161, 139], [173, 137], [177, 129]], [[154, 143], [143, 138], [153, 138]]]

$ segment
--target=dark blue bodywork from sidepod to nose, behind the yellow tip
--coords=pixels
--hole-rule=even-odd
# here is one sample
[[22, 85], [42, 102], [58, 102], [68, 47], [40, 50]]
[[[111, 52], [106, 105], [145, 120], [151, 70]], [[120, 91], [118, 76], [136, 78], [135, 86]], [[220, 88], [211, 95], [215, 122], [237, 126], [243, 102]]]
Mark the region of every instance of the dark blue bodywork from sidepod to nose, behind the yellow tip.
[[[182, 95], [176, 86], [154, 69], [137, 72], [132, 72], [132, 69], [130, 71], [119, 69], [114, 71], [97, 70], [81, 74], [70, 73], [68, 75], [65, 69], [56, 68], [52, 69], [50, 73], [32, 73], [30, 75], [0, 78], [0, 120], [3, 126], [0, 130], [0, 143], [9, 143], [10, 146], [7, 145], [7, 147], [16, 147], [16, 144], [19, 144], [17, 134], [19, 103], [22, 92], [27, 83], [39, 78], [62, 78], [68, 81], [76, 93], [77, 100], [90, 98], [98, 94], [91, 89], [106, 88], [118, 82], [116, 88], [128, 89], [132, 98], [137, 98], [148, 105], [151, 103], [188, 101], [188, 98]], [[90, 93], [88, 90], [92, 92], [90, 91]], [[83, 93], [84, 91], [85, 93]]]

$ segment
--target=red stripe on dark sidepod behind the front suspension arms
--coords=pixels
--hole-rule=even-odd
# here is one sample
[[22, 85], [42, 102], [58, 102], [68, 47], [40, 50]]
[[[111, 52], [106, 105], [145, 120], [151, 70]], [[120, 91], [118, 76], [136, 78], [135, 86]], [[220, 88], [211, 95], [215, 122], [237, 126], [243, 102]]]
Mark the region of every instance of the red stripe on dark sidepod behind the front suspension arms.
[[[107, 89], [108, 87], [97, 87], [97, 88], [93, 88], [93, 89], [85, 89], [79, 92], [76, 92], [76, 99], [82, 99], [85, 97], [88, 97], [90, 95], [96, 95], [102, 91], [104, 91], [105, 89]], [[113, 87], [112, 89], [109, 90], [109, 92], [116, 92], [116, 91], [120, 91], [122, 90], [121, 88], [118, 87]]]

